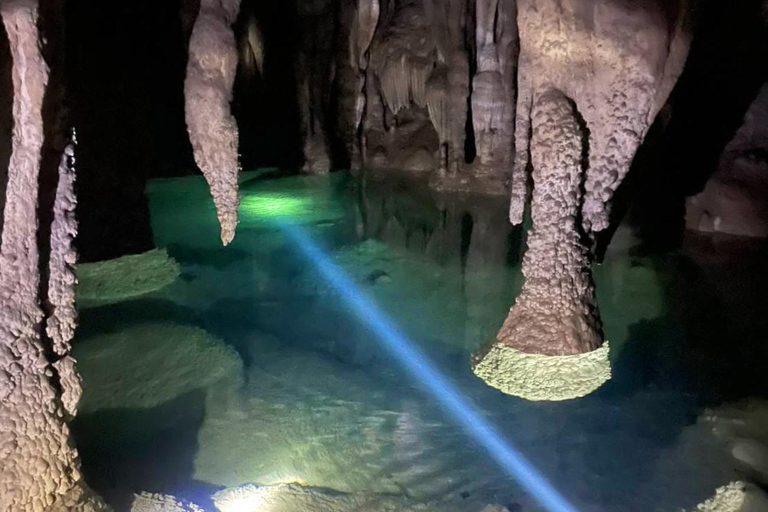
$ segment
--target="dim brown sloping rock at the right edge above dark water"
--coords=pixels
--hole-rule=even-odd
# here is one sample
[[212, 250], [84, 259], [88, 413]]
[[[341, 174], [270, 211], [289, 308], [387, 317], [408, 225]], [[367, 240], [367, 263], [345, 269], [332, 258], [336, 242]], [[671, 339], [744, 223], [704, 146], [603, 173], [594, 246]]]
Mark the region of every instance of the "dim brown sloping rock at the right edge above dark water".
[[688, 229], [768, 237], [768, 85], [726, 146], [715, 174], [687, 203]]

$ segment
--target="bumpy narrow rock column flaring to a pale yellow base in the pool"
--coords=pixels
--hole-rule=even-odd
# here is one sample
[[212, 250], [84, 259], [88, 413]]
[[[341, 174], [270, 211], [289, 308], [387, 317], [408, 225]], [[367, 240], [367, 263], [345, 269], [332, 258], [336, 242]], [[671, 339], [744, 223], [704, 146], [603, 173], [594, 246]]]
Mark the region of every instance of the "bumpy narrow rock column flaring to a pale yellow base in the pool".
[[529, 400], [584, 396], [610, 378], [587, 254], [579, 240], [582, 137], [573, 104], [548, 90], [533, 110], [533, 229], [525, 285], [475, 373]]

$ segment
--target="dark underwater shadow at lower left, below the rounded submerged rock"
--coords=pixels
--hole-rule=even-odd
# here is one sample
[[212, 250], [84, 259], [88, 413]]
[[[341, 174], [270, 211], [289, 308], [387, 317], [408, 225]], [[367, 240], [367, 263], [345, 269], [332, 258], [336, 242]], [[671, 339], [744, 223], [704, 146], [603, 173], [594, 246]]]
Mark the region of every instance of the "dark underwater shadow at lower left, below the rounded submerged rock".
[[204, 418], [201, 390], [151, 409], [81, 413], [72, 433], [88, 484], [118, 511], [130, 510], [133, 493], [189, 496], [201, 487], [192, 475]]

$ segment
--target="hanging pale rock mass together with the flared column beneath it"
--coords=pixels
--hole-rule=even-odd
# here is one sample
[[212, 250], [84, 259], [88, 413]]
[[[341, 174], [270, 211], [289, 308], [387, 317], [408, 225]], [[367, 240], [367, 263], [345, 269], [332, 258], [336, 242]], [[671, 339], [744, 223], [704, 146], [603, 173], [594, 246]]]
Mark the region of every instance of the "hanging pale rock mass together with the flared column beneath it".
[[[497, 340], [475, 357], [491, 385], [562, 400], [607, 380], [584, 239], [608, 227], [613, 193], [682, 71], [687, 13], [685, 2], [518, 2], [510, 219], [523, 220], [532, 165], [533, 229], [523, 291]], [[533, 356], [537, 364], [521, 374], [520, 360]]]

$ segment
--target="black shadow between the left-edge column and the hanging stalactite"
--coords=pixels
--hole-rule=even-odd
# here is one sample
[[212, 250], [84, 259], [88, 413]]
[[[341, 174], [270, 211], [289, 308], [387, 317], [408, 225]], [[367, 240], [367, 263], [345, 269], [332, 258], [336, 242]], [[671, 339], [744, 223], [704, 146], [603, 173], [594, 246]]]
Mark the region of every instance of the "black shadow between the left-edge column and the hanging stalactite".
[[147, 179], [195, 172], [184, 120], [180, 12], [178, 0], [67, 2], [83, 261], [152, 248]]

